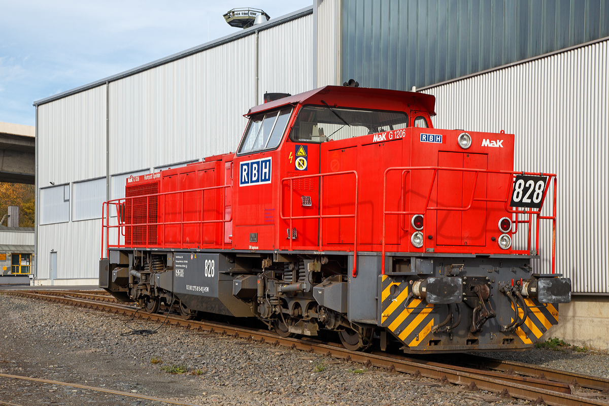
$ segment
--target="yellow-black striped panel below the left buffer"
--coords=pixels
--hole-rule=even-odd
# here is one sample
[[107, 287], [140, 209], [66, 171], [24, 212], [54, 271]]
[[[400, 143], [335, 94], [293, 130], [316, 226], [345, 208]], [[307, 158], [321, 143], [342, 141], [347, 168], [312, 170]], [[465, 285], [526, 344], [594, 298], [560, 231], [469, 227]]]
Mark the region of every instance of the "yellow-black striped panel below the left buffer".
[[426, 343], [434, 325], [434, 306], [409, 296], [406, 278], [381, 276], [381, 327], [410, 346]]

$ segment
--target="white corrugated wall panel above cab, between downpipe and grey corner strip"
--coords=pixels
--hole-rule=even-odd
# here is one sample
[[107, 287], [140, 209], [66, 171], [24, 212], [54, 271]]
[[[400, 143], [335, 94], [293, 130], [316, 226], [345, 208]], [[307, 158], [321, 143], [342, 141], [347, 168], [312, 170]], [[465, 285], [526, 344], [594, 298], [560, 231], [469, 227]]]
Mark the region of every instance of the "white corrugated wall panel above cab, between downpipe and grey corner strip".
[[266, 92], [298, 94], [315, 88], [312, 38], [312, 14], [259, 32], [259, 103]]

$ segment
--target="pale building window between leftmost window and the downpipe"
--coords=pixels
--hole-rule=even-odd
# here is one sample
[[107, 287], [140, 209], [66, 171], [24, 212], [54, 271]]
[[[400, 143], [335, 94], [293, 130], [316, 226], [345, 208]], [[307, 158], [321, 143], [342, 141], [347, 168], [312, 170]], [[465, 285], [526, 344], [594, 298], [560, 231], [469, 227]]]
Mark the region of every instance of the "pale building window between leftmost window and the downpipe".
[[100, 219], [106, 200], [106, 178], [74, 182], [72, 189], [72, 221]]

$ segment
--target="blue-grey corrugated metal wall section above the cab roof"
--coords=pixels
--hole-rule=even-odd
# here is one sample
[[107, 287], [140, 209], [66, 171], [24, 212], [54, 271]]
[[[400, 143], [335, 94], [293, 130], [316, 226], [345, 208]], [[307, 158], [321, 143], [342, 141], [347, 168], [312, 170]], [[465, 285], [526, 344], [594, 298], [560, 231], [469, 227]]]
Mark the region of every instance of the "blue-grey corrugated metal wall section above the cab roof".
[[342, 80], [410, 90], [609, 35], [607, 0], [351, 0]]

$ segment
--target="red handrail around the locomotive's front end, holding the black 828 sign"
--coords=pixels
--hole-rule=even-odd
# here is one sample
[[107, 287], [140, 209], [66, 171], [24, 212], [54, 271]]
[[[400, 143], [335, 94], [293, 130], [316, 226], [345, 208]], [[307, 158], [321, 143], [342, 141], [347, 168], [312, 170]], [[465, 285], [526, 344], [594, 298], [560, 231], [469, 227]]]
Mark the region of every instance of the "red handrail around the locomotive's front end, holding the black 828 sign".
[[[425, 205], [424, 205], [424, 209], [422, 210], [417, 210], [417, 211], [387, 211], [387, 173], [391, 172], [392, 170], [402, 170], [402, 178], [401, 181], [403, 183], [403, 177], [404, 177], [404, 173], [406, 173], [406, 175], [408, 175], [408, 173], [410, 173], [412, 170], [433, 170], [433, 177], [432, 177], [432, 181], [431, 184], [429, 185], [429, 191], [425, 200]], [[449, 171], [457, 171], [457, 172], [474, 172], [475, 173], [475, 177], [474, 177], [474, 187], [472, 189], [471, 192], [471, 199], [470, 199], [470, 204], [468, 206], [466, 206], [465, 208], [463, 207], [439, 207], [439, 206], [435, 206], [435, 207], [429, 207], [429, 200], [431, 199], [431, 193], [434, 189], [434, 184], [435, 184], [435, 180], [437, 178], [437, 174], [438, 174], [438, 170], [449, 170]], [[507, 195], [504, 199], [492, 199], [492, 198], [474, 198], [475, 192], [476, 192], [476, 183], [477, 183], [477, 179], [478, 179], [478, 173], [498, 173], [498, 174], [504, 174], [504, 175], [512, 175], [512, 178], [510, 179], [510, 187], [508, 187], [507, 189]], [[538, 210], [532, 210], [532, 209], [524, 209], [524, 210], [518, 210], [518, 209], [511, 209], [509, 206], [510, 203], [510, 197], [511, 197], [511, 192], [512, 192], [512, 187], [513, 187], [513, 183], [514, 183], [514, 177], [516, 175], [534, 175], [534, 176], [543, 176], [543, 177], [548, 177], [549, 180], [551, 180], [552, 178], [554, 179], [554, 201], [552, 204], [552, 215], [548, 215], [548, 216], [544, 216], [541, 215], [541, 208], [543, 208], [543, 205], [545, 203], [546, 200], [546, 194], [547, 191], [549, 189], [549, 180], [546, 182], [546, 187], [544, 189], [543, 192], [543, 196], [541, 197], [541, 206], [540, 209]], [[493, 169], [473, 169], [473, 168], [450, 168], [450, 167], [440, 167], [440, 166], [395, 166], [395, 167], [389, 167], [385, 170], [384, 172], [384, 179], [383, 179], [383, 215], [382, 215], [382, 259], [381, 259], [381, 273], [382, 275], [385, 275], [385, 229], [386, 229], [386, 216], [387, 214], [390, 215], [407, 215], [407, 214], [423, 214], [423, 227], [425, 227], [426, 222], [427, 222], [427, 216], [425, 214], [427, 214], [428, 210], [443, 210], [443, 211], [467, 211], [471, 208], [471, 205], [473, 205], [474, 201], [495, 201], [498, 203], [504, 203], [504, 208], [505, 211], [512, 213], [512, 214], [516, 214], [516, 219], [515, 219], [515, 230], [511, 232], [512, 237], [513, 235], [516, 233], [516, 231], [518, 231], [518, 223], [528, 223], [529, 227], [528, 227], [528, 239], [527, 239], [527, 249], [530, 252], [530, 248], [531, 248], [531, 225], [532, 225], [532, 215], [536, 216], [536, 229], [535, 229], [535, 248], [537, 253], [539, 252], [539, 230], [540, 230], [540, 220], [552, 220], [552, 273], [555, 273], [555, 253], [556, 253], [556, 187], [557, 187], [557, 178], [556, 178], [556, 174], [555, 173], [540, 173], [540, 172], [515, 172], [515, 171], [510, 171], [510, 170], [493, 170]], [[404, 195], [404, 187], [401, 188], [402, 191], [402, 196], [401, 198], [403, 198]], [[519, 214], [525, 214], [526, 215], [526, 220], [519, 220], [518, 219], [518, 215]], [[425, 240], [423, 240], [423, 248], [425, 245]]]

